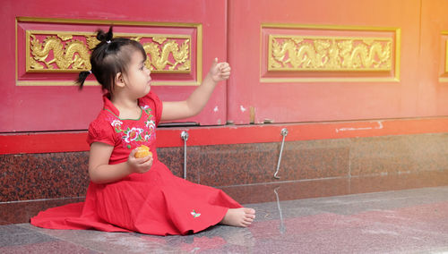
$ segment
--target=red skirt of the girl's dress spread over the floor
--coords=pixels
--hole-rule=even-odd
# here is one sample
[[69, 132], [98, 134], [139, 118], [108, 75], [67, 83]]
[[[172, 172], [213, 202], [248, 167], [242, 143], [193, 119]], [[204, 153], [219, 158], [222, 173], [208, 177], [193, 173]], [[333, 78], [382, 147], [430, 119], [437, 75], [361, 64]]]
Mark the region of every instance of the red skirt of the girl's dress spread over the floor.
[[31, 224], [52, 229], [96, 229], [155, 235], [200, 232], [241, 207], [222, 190], [185, 181], [155, 161], [145, 174], [108, 184], [90, 182], [86, 200], [49, 208]]

